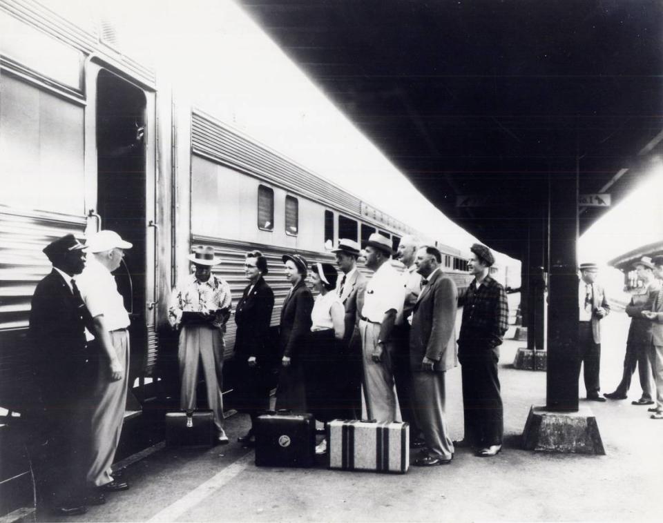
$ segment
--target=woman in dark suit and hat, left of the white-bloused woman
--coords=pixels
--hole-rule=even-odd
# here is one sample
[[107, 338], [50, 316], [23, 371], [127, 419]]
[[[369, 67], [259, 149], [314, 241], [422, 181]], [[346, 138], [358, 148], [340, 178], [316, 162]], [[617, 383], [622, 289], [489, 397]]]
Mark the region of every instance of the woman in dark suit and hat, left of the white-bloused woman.
[[292, 287], [281, 309], [279, 348], [281, 372], [276, 389], [276, 408], [305, 413], [306, 391], [302, 356], [308, 351], [313, 296], [304, 283], [306, 260], [297, 254], [282, 257], [285, 277]]

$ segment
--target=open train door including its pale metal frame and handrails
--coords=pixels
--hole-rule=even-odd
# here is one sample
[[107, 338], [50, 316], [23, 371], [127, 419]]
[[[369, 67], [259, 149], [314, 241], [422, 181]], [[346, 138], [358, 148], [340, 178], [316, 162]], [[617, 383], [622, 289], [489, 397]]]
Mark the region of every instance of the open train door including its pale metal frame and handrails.
[[[86, 83], [88, 228], [115, 230], [133, 244], [115, 279], [131, 317], [129, 383], [134, 388], [136, 379], [142, 384], [151, 371], [157, 344], [155, 97], [95, 61], [88, 63]], [[128, 410], [134, 411], [137, 405], [128, 396]]]

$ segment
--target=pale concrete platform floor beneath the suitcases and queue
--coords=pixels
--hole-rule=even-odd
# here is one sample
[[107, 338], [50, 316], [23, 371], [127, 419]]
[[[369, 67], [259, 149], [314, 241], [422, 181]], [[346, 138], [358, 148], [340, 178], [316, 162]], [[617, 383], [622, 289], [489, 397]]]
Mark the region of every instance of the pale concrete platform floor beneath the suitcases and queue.
[[[603, 392], [621, 377], [628, 318], [604, 321]], [[513, 329], [509, 336], [512, 336]], [[164, 449], [126, 468], [131, 490], [71, 521], [660, 521], [663, 421], [648, 419], [637, 374], [628, 401], [594, 403], [608, 455], [520, 450], [530, 405], [545, 403], [546, 375], [511, 368], [523, 342], [507, 340], [500, 359], [506, 441], [494, 458], [459, 449], [449, 466], [407, 475], [256, 468], [236, 437], [244, 415], [227, 420], [231, 444], [208, 451]], [[454, 438], [463, 432], [460, 370], [448, 373]], [[584, 397], [584, 386], [580, 386]]]

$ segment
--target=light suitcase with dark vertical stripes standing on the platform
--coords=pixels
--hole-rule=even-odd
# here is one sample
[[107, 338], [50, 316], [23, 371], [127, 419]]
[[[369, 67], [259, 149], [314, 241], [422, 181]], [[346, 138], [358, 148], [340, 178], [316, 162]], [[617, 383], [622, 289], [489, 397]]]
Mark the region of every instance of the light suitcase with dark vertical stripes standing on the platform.
[[410, 425], [402, 422], [334, 420], [327, 424], [329, 468], [406, 473]]

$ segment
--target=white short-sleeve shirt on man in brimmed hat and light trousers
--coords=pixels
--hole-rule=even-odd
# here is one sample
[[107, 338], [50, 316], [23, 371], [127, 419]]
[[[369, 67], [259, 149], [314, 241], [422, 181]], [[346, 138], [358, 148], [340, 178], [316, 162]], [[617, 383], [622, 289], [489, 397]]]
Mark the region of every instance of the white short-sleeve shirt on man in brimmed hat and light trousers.
[[382, 323], [387, 310], [396, 310], [396, 315], [403, 311], [405, 286], [398, 271], [389, 261], [385, 261], [366, 285], [364, 306], [361, 315], [369, 322]]

